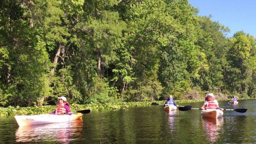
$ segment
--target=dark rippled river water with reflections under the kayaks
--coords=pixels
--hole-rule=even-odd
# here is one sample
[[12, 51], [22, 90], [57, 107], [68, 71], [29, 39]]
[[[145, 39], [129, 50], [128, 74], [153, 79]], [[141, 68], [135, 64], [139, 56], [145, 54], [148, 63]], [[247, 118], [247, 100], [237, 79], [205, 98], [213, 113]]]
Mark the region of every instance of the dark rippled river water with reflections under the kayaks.
[[[203, 102], [185, 103], [201, 108]], [[219, 101], [222, 118], [203, 118], [200, 110], [165, 112], [163, 106], [92, 111], [71, 123], [19, 127], [14, 117], [0, 117], [0, 143], [256, 143], [256, 100], [238, 105]]]

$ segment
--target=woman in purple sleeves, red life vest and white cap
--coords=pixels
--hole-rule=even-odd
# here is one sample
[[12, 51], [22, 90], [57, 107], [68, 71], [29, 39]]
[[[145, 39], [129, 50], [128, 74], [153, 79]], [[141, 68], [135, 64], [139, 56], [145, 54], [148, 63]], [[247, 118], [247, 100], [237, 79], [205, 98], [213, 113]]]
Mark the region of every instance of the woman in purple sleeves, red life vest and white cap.
[[70, 111], [70, 104], [68, 103], [67, 99], [65, 97], [58, 97], [59, 104], [57, 108], [51, 112], [50, 114], [66, 114], [71, 115]]

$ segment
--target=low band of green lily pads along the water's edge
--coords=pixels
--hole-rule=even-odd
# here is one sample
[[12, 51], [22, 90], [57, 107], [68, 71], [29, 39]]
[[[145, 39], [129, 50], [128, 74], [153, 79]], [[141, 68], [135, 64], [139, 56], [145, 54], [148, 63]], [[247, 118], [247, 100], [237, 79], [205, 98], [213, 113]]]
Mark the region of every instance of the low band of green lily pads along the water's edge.
[[[252, 99], [252, 98], [242, 98], [239, 100]], [[217, 99], [218, 101], [230, 100], [230, 98]], [[92, 111], [102, 111], [104, 109], [127, 109], [129, 107], [143, 107], [151, 106], [153, 102], [158, 104], [164, 104], [165, 100], [154, 100], [154, 101], [138, 101], [138, 102], [116, 102], [116, 103], [93, 103], [93, 104], [71, 104], [71, 111], [78, 111], [84, 109], [90, 109]], [[177, 104], [180, 103], [194, 103], [194, 102], [204, 102], [204, 97], [197, 100], [175, 100]], [[0, 117], [3, 116], [15, 116], [15, 115], [39, 115], [39, 114], [49, 114], [52, 112], [56, 106], [30, 106], [30, 107], [12, 107], [7, 108], [0, 107]]]

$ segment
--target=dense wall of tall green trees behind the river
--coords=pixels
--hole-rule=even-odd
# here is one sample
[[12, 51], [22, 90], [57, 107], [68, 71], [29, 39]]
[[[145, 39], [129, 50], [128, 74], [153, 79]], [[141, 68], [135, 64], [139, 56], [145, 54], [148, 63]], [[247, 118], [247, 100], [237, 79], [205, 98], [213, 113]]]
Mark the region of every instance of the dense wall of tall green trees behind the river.
[[256, 94], [256, 39], [188, 0], [1, 0], [0, 106]]

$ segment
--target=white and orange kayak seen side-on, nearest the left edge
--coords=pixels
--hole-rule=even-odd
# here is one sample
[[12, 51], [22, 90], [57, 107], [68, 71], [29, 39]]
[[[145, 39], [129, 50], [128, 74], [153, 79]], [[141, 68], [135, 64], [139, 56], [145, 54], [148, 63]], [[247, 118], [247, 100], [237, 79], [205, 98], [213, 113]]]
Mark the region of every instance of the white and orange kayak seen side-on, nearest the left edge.
[[83, 114], [74, 113], [72, 115], [52, 115], [52, 114], [41, 114], [32, 116], [14, 116], [19, 126], [34, 125], [34, 124], [52, 124], [70, 122], [78, 119], [82, 119]]

